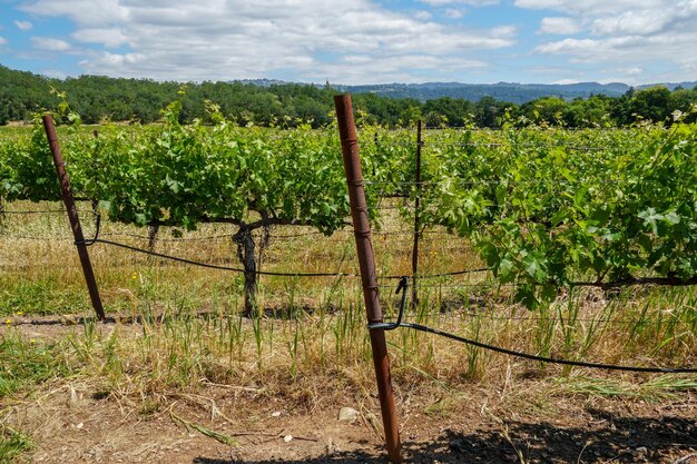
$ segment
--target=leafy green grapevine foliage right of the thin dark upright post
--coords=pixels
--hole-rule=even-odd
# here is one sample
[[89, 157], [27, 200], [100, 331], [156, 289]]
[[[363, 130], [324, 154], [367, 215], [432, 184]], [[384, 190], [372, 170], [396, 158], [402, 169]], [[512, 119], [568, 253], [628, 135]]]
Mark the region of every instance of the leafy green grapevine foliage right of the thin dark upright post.
[[529, 306], [586, 279], [697, 275], [697, 125], [449, 137], [424, 220], [470, 237]]

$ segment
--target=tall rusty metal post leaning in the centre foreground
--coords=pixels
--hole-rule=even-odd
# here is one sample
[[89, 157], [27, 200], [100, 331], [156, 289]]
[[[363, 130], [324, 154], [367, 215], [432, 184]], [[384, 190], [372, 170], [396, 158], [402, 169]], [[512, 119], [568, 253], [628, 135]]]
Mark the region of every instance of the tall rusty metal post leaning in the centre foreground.
[[[353, 110], [350, 95], [334, 97], [338, 134], [341, 136], [344, 170], [348, 186], [348, 200], [351, 203], [351, 216], [356, 240], [356, 251], [361, 267], [361, 282], [363, 284], [363, 298], [369, 324], [382, 323], [382, 309], [377, 298], [377, 276], [375, 274], [375, 258], [371, 243], [371, 226], [367, 218], [367, 204], [363, 175], [361, 172], [361, 158], [359, 156], [359, 140], [353, 119]], [[402, 444], [400, 443], [399, 419], [392, 379], [390, 375], [390, 357], [385, 330], [382, 328], [371, 330], [371, 346], [373, 349], [373, 363], [377, 377], [377, 394], [382, 411], [382, 423], [385, 430], [385, 443], [387, 457], [394, 464], [401, 464]]]

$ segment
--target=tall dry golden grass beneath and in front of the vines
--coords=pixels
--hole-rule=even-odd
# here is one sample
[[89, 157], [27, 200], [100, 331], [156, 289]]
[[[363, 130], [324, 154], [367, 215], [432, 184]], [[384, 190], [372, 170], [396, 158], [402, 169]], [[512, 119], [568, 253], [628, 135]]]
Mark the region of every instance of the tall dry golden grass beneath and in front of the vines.
[[[56, 209], [57, 205], [20, 203], [8, 209], [30, 208]], [[394, 234], [409, 230], [410, 225], [395, 216], [375, 234], [380, 275], [410, 274], [411, 236]], [[310, 411], [338, 403], [347, 392], [359, 403], [374, 406], [370, 344], [356, 278], [264, 276], [259, 303], [265, 314], [247, 319], [240, 316], [238, 274], [95, 245], [90, 255], [97, 280], [105, 306], [118, 316], [117, 322], [12, 327], [37, 315], [52, 320], [60, 319], [57, 315], [91, 314], [67, 231], [62, 215], [8, 215], [0, 235], [0, 310], [9, 322], [1, 337], [21, 345], [27, 356], [35, 345], [49, 349], [56, 359], [57, 385], [65, 385], [60, 378], [66, 376], [70, 382], [78, 379], [92, 392], [146, 412], [206, 385], [279, 396]], [[204, 225], [180, 239], [163, 230], [155, 249], [239, 267], [232, 234], [223, 225]], [[147, 240], [130, 235], [147, 233], [102, 225], [104, 238], [147, 247]], [[465, 240], [438, 234], [425, 237], [423, 273], [481, 265]], [[274, 272], [355, 273], [352, 234], [323, 237], [307, 228], [274, 229], [262, 266]], [[510, 288], [492, 286], [487, 278], [472, 274], [423, 280], [421, 304], [410, 310], [409, 319], [541, 355], [645, 366], [695, 361], [697, 295], [693, 288], [627, 289], [618, 295], [576, 290], [530, 313], [511, 304]], [[395, 282], [381, 280], [381, 285], [385, 285], [385, 313], [394, 316]], [[498, 407], [519, 411], [550, 407], [550, 392], [646, 399], [695, 387], [680, 376], [608, 376], [512, 359], [408, 329], [392, 332], [389, 343], [400, 401], [419, 392], [432, 398], [424, 411], [434, 417], [457, 412], [469, 401], [463, 389], [474, 386], [495, 392]]]

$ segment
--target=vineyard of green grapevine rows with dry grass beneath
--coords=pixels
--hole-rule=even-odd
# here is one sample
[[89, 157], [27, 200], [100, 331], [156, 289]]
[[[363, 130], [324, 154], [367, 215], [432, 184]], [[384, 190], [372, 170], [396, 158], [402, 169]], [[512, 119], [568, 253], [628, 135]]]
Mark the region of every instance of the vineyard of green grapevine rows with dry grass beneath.
[[[259, 416], [283, 409], [278, 402], [289, 405], [279, 411], [286, 430], [300, 411], [348, 401], [379, 446], [337, 128], [239, 127], [213, 106], [213, 126], [183, 126], [179, 110], [170, 105], [153, 126], [72, 118], [59, 128], [106, 324], [90, 317], [40, 120], [32, 131], [0, 131], [0, 349], [11, 359], [0, 368], [2, 443], [24, 440], [23, 455], [37, 446], [35, 458], [59, 462], [41, 454], [50, 428], [37, 417], [68, 386], [87, 395], [82, 407], [111, 399], [225, 450], [253, 447], [239, 431], [276, 434], [256, 423], [268, 426]], [[697, 450], [697, 383], [670, 372], [695, 367], [697, 125], [361, 126], [359, 146], [389, 320], [409, 276], [406, 323], [547, 359], [391, 332], [402, 434], [416, 462], [678, 462]], [[665, 372], [608, 374], [553, 359]], [[30, 405], [47, 392], [46, 404]], [[651, 422], [664, 406], [675, 415]], [[544, 432], [539, 424], [558, 407], [577, 417]], [[477, 428], [475, 417], [488, 425]], [[586, 419], [597, 426], [581, 431]], [[639, 432], [629, 436], [603, 428], [630, 419]], [[669, 419], [678, 437], [646, 432]], [[546, 450], [554, 442], [543, 432], [566, 436], [569, 451]], [[77, 443], [79, 431], [71, 436]], [[348, 440], [336, 454], [341, 438], [311, 438], [295, 458], [380, 462], [380, 451], [359, 453]], [[441, 442], [445, 451], [433, 447]], [[212, 461], [220, 450], [196, 450], [193, 457], [210, 458], [194, 462], [222, 462]], [[244, 462], [269, 462], [244, 453]]]

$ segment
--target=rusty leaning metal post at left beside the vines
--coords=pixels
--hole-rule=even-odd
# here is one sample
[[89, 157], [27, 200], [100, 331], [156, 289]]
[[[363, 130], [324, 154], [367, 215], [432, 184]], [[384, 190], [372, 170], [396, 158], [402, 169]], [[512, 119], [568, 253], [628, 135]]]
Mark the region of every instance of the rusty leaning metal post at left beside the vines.
[[60, 154], [60, 145], [58, 144], [58, 135], [56, 134], [56, 127], [53, 126], [53, 118], [50, 115], [43, 116], [43, 129], [46, 130], [46, 137], [48, 138], [49, 146], [51, 147], [51, 154], [53, 155], [56, 174], [58, 175], [58, 180], [60, 181], [60, 196], [66, 205], [66, 210], [68, 211], [70, 228], [72, 229], [75, 244], [78, 247], [78, 255], [80, 257], [80, 264], [82, 265], [82, 273], [85, 274], [85, 282], [87, 283], [89, 297], [92, 302], [92, 307], [97, 313], [97, 317], [99, 317], [99, 320], [104, 320], [105, 314], [104, 307], [101, 306], [101, 298], [99, 297], [99, 289], [97, 288], [97, 280], [95, 279], [92, 264], [89, 260], [89, 253], [87, 251], [87, 246], [85, 245], [85, 235], [82, 234], [78, 208], [76, 207], [75, 199], [72, 198], [70, 181], [68, 180], [68, 174], [66, 172], [66, 164], [62, 159], [62, 155]]

